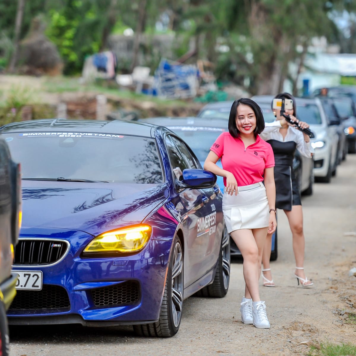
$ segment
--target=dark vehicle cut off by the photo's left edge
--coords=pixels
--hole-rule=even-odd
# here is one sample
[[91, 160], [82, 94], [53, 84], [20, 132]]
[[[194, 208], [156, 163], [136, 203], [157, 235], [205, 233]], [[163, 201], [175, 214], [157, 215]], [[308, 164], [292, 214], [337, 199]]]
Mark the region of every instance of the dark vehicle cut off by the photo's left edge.
[[4, 137], [0, 136], [0, 355], [9, 356], [6, 311], [16, 295], [17, 273], [11, 271], [14, 246], [21, 225], [20, 165], [13, 161]]

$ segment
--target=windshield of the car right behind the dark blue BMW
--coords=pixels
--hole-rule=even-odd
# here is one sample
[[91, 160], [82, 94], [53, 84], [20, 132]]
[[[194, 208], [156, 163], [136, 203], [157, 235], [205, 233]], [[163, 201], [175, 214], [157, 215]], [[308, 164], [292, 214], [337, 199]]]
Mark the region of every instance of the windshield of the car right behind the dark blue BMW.
[[211, 145], [215, 142], [220, 133], [227, 131], [220, 127], [198, 127], [198, 126], [166, 126], [181, 137], [193, 152], [199, 161], [205, 161], [210, 151]]

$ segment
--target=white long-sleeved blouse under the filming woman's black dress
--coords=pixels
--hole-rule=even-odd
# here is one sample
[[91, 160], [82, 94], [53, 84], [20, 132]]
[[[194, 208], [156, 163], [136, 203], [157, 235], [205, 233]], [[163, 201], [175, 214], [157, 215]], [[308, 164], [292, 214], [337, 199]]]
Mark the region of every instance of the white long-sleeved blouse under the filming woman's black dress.
[[281, 121], [275, 120], [273, 122], [265, 123], [265, 130], [260, 133], [260, 137], [265, 140], [276, 140], [280, 142], [294, 141], [297, 143], [297, 150], [301, 155], [305, 157], [311, 157], [314, 153], [314, 148], [311, 146], [311, 142], [304, 141], [304, 135], [302, 131], [294, 129], [294, 127], [288, 125], [287, 135], [283, 138], [279, 129], [282, 127]]

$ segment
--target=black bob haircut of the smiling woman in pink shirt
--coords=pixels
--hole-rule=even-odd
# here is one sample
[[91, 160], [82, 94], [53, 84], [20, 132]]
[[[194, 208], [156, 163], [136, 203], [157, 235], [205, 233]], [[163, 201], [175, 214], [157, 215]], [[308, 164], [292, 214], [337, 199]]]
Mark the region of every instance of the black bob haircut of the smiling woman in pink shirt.
[[237, 108], [239, 105], [247, 105], [250, 106], [250, 108], [253, 110], [256, 116], [256, 129], [253, 131], [255, 136], [258, 133], [261, 133], [263, 130], [265, 130], [265, 119], [263, 119], [263, 112], [258, 106], [258, 104], [248, 98], [241, 98], [238, 100], [235, 100], [234, 103], [232, 103], [231, 110], [230, 110], [230, 116], [229, 116], [229, 132], [232, 137], [239, 137], [239, 130], [237, 129], [236, 126], [236, 116], [237, 116]]

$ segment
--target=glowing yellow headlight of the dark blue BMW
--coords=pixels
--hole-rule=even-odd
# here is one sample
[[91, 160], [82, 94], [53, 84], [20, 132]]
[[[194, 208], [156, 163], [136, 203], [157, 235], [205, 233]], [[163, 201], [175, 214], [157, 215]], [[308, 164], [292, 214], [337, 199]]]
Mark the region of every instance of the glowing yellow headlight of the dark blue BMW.
[[152, 227], [149, 225], [135, 225], [104, 232], [96, 236], [95, 239], [85, 247], [83, 252], [138, 252], [145, 247], [151, 237], [151, 233]]

